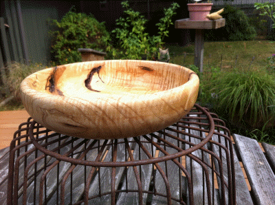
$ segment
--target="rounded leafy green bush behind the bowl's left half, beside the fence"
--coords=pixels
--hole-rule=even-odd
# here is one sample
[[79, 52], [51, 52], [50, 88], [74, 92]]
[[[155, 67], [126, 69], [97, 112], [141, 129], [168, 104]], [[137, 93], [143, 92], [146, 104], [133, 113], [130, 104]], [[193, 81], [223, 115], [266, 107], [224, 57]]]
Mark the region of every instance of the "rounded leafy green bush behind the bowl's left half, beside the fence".
[[78, 48], [107, 49], [110, 37], [104, 22], [99, 23], [91, 15], [69, 11], [61, 22], [52, 20], [52, 23], [58, 27], [58, 31], [51, 32], [52, 52], [58, 65], [81, 61]]

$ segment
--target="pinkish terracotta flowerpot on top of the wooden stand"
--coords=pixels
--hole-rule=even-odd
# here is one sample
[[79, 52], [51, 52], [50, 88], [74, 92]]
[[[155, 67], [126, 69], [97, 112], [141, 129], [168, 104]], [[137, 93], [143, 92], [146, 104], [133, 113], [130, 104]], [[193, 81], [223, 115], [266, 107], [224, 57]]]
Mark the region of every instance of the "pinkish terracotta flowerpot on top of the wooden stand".
[[213, 3], [198, 3], [201, 0], [193, 0], [195, 3], [188, 3], [189, 19], [191, 21], [209, 21], [206, 18], [210, 14]]

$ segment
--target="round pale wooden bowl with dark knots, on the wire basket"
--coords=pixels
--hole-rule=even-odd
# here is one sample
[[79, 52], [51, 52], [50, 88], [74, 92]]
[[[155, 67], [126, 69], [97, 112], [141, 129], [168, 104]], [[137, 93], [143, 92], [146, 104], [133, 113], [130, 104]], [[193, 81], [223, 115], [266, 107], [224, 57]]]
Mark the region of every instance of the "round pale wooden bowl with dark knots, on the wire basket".
[[197, 100], [199, 78], [156, 61], [92, 61], [51, 67], [25, 78], [21, 99], [30, 116], [68, 136], [115, 139], [164, 129]]

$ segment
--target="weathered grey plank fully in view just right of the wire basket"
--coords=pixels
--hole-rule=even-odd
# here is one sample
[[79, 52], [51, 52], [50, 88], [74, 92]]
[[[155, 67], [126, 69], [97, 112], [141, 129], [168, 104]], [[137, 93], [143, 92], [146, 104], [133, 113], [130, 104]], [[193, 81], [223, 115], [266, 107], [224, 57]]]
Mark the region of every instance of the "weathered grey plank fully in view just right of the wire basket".
[[275, 175], [256, 140], [233, 135], [243, 166], [256, 199], [256, 204], [275, 204]]

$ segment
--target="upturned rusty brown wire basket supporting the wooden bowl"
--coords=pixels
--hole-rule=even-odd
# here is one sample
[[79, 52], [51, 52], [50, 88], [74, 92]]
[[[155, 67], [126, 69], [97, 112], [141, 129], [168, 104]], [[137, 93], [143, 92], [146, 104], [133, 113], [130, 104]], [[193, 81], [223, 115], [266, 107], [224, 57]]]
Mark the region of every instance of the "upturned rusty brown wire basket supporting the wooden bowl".
[[8, 204], [236, 204], [230, 131], [195, 107], [155, 133], [73, 138], [28, 119], [10, 145]]

